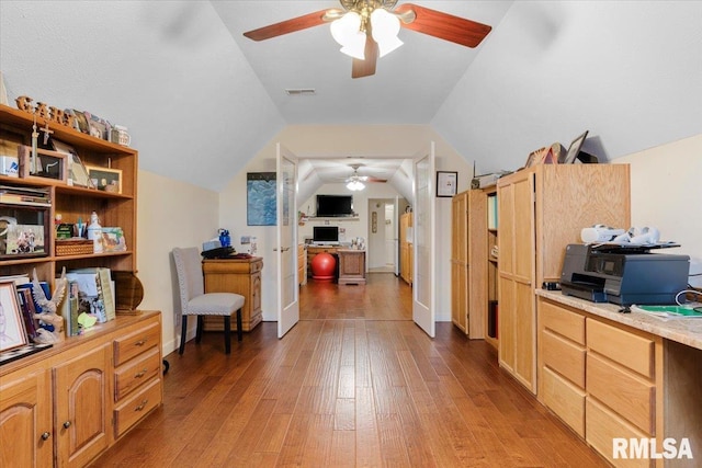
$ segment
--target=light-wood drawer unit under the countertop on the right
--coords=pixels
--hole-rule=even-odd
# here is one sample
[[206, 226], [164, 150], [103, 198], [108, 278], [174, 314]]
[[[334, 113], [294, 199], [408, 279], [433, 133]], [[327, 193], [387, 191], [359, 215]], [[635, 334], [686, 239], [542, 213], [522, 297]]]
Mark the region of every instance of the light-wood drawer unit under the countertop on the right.
[[663, 350], [660, 336], [539, 298], [539, 400], [614, 466], [614, 437], [663, 432]]

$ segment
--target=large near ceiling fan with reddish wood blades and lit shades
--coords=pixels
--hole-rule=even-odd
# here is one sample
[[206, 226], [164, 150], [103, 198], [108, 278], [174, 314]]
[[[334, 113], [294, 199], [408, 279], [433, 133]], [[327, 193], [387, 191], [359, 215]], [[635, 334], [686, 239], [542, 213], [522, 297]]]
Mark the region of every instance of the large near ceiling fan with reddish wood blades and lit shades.
[[353, 57], [352, 78], [375, 75], [377, 58], [399, 47], [400, 26], [466, 47], [476, 47], [491, 26], [412, 3], [397, 8], [398, 0], [339, 0], [332, 8], [292, 18], [244, 33], [264, 41], [308, 27], [331, 23], [331, 34], [341, 52]]

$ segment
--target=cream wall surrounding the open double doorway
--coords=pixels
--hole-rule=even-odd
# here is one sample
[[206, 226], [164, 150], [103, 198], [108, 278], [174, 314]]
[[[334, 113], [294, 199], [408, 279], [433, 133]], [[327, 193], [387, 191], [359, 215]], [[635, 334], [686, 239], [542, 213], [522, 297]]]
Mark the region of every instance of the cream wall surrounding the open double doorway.
[[[473, 176], [473, 160], [458, 155], [443, 138], [429, 126], [325, 126], [295, 125], [287, 126], [275, 138], [252, 157], [248, 165], [237, 173], [219, 195], [219, 222], [223, 228], [233, 232], [233, 243], [238, 250], [241, 236], [258, 237], [258, 254], [263, 258], [262, 298], [263, 320], [275, 320], [276, 256], [273, 254], [275, 228], [247, 226], [246, 221], [246, 173], [275, 171], [275, 144], [281, 142], [298, 158], [365, 156], [367, 158], [409, 157], [429, 147], [435, 141], [437, 170], [457, 171], [458, 191], [467, 190]], [[372, 191], [380, 190], [373, 185]], [[375, 192], [367, 192], [369, 194]], [[394, 196], [393, 194], [392, 196]], [[369, 195], [370, 196], [370, 195]], [[386, 193], [377, 193], [375, 197], [387, 197]], [[306, 210], [307, 202], [298, 205]], [[355, 205], [354, 205], [355, 206]], [[303, 209], [304, 208], [304, 209]], [[362, 209], [362, 210], [361, 210]], [[355, 232], [356, 227], [363, 232], [367, 229], [367, 204], [356, 208], [359, 221], [346, 221], [348, 228]], [[437, 317], [440, 321], [451, 320], [451, 198], [437, 201], [438, 229], [438, 273], [437, 273]], [[358, 222], [353, 224], [353, 222]], [[312, 228], [309, 228], [312, 229]], [[306, 232], [306, 231], [303, 231]], [[310, 231], [309, 231], [310, 232]], [[304, 236], [304, 233], [301, 236]], [[366, 237], [365, 233], [361, 235]]]

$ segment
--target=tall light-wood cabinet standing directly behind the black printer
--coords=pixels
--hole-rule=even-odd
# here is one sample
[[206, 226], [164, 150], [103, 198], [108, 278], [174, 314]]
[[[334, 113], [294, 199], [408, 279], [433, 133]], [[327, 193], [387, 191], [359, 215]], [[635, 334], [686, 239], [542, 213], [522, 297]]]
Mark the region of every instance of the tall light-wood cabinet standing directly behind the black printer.
[[501, 178], [497, 196], [499, 364], [535, 393], [535, 289], [559, 281], [584, 227], [630, 226], [629, 165], [536, 165]]

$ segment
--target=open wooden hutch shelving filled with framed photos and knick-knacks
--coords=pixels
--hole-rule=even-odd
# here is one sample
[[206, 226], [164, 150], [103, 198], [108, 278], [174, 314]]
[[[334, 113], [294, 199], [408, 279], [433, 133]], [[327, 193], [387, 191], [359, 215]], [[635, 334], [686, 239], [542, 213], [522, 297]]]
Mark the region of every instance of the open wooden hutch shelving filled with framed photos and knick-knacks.
[[[46, 121], [37, 117], [36, 125], [45, 126]], [[30, 113], [0, 105], [0, 127], [11, 134], [21, 135], [30, 142], [33, 116]], [[31, 254], [7, 254], [0, 252], [0, 274], [23, 274], [36, 267], [42, 281], [53, 284], [61, 269], [103, 266], [112, 271], [136, 272], [136, 217], [137, 217], [137, 151], [106, 140], [81, 134], [70, 127], [53, 122], [48, 123], [54, 132], [52, 138], [70, 145], [83, 164], [97, 168], [110, 168], [121, 171], [121, 192], [105, 192], [68, 185], [63, 181], [48, 178], [10, 178], [0, 175], [0, 184], [19, 187], [43, 189], [48, 191], [52, 204], [42, 208], [41, 216], [36, 207], [0, 203], [0, 216], [19, 217], [34, 215], [36, 222], [45, 226], [43, 256]], [[53, 226], [57, 214], [64, 222], [75, 224], [78, 219], [89, 220], [91, 212], [97, 212], [103, 227], [120, 227], [124, 232], [126, 250], [121, 252], [78, 253], [57, 255]], [[32, 212], [32, 213], [30, 213]]]

